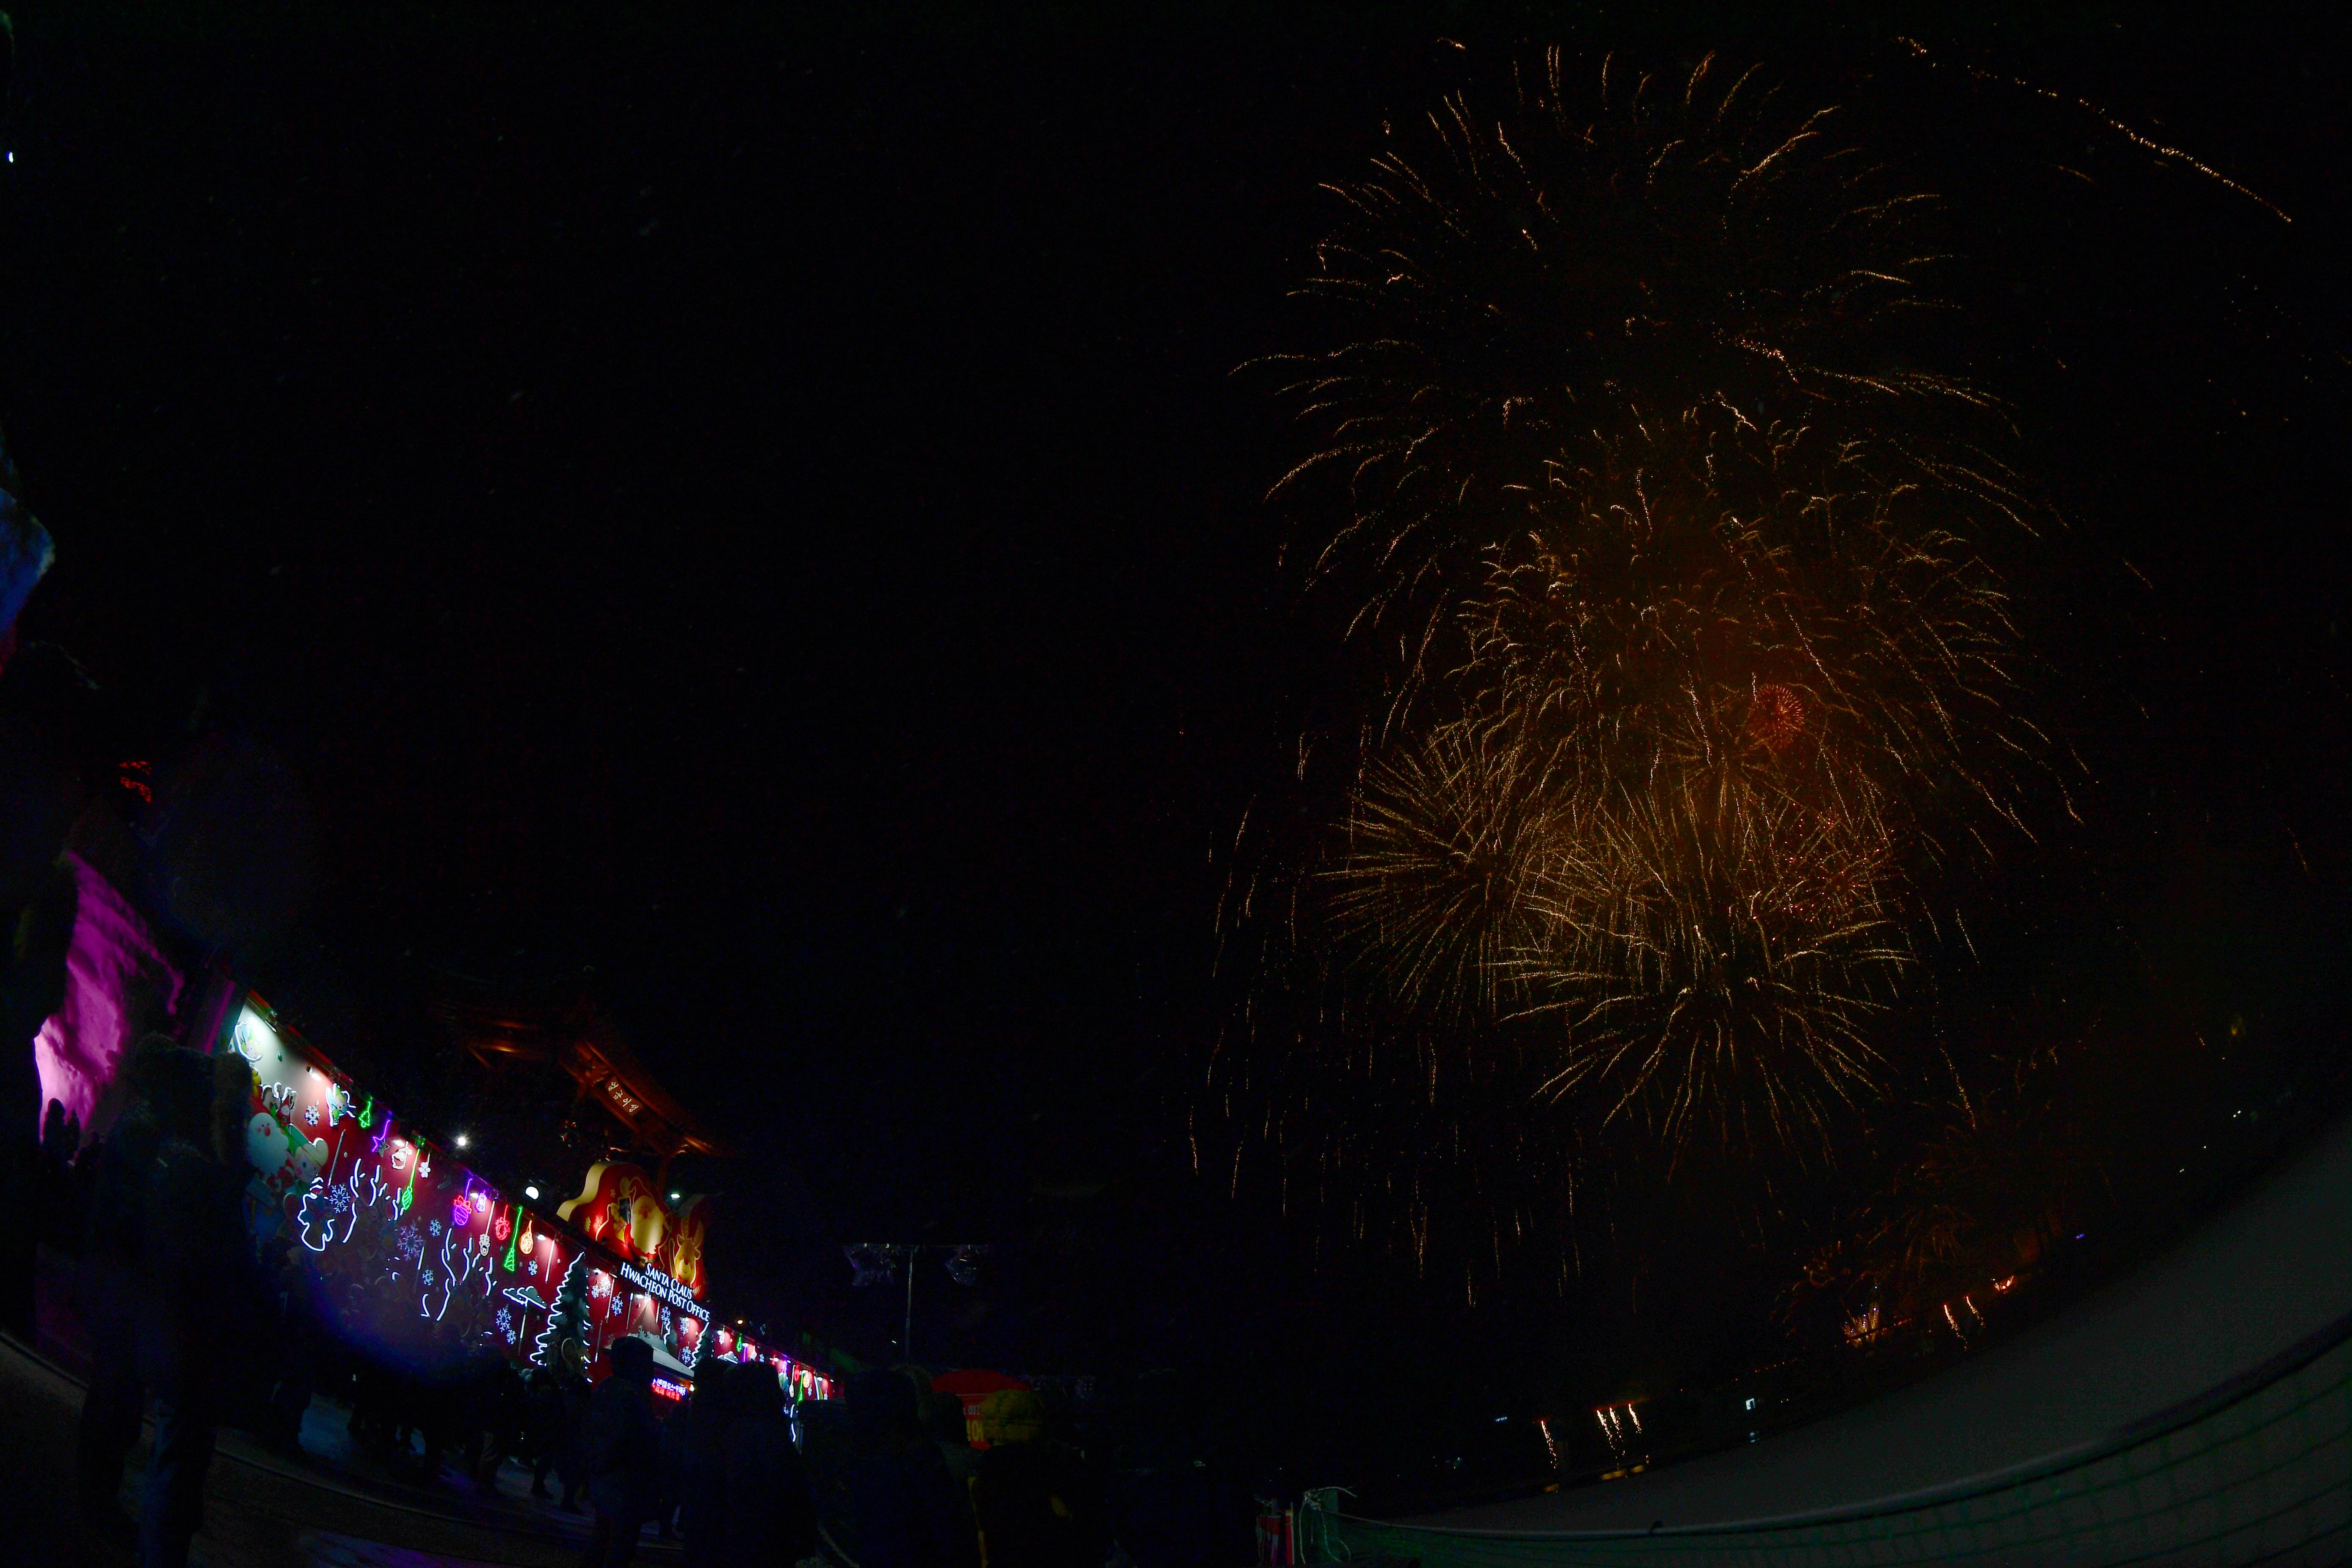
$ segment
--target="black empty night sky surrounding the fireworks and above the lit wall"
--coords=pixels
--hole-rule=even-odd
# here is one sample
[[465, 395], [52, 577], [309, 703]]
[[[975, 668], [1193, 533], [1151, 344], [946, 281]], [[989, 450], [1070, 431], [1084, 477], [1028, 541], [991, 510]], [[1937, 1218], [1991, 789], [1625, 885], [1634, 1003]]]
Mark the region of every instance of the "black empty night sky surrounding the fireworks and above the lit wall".
[[[421, 973], [583, 985], [746, 1150], [694, 1173], [717, 1291], [858, 1354], [896, 1298], [851, 1239], [997, 1241], [924, 1284], [922, 1349], [976, 1361], [1232, 1363], [1341, 1298], [1498, 1387], [1548, 1354], [1312, 1274], [1176, 1128], [1218, 853], [1324, 658], [1232, 369], [1432, 38], [1606, 21], [238, 9], [14, 9], [0, 428], [59, 543], [28, 635], [127, 748], [268, 780], [299, 898], [240, 973], [369, 1060]], [[2009, 938], [2122, 910], [2197, 954], [2185, 1009], [2296, 1046], [2352, 865], [2343, 407], [2298, 357], [2343, 364], [2343, 40], [1936, 26], [1639, 42], [1936, 33], [2296, 216], [2020, 216], [2093, 362], [2044, 388], [2067, 501], [2159, 604], [2098, 661], [2145, 729], [2079, 736], [2107, 903]]]

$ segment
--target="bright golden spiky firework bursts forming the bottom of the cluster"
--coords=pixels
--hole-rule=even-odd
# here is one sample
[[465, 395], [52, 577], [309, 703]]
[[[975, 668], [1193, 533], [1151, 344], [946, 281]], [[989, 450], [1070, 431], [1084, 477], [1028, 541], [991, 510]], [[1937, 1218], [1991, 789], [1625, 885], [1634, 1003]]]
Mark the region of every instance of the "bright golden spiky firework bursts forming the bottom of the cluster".
[[1907, 961], [1891, 835], [1865, 780], [1823, 809], [1703, 750], [1569, 769], [1449, 726], [1367, 776], [1334, 919], [1406, 1004], [1548, 1018], [1519, 1041], [1536, 1098], [1606, 1086], [1602, 1124], [1642, 1103], [1675, 1145], [1816, 1135], [1870, 1088], [1860, 1027]]

